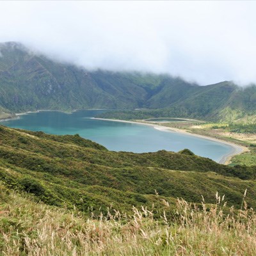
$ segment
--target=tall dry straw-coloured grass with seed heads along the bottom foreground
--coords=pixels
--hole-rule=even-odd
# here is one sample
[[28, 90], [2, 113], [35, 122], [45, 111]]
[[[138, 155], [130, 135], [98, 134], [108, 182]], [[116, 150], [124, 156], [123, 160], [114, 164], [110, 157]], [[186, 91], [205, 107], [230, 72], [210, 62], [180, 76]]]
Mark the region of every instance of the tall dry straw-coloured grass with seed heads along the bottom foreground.
[[171, 209], [164, 202], [166, 211], [157, 220], [157, 209], [86, 218], [28, 196], [4, 196], [1, 255], [256, 255], [256, 216], [247, 209], [245, 195], [239, 211], [227, 211], [218, 193], [210, 206], [178, 199]]

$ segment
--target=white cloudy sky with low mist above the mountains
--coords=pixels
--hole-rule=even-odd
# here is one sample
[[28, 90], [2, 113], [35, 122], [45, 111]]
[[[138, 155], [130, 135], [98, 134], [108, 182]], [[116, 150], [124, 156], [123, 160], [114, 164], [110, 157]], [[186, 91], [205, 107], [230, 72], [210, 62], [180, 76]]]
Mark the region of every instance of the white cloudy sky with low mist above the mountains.
[[88, 69], [246, 85], [256, 83], [255, 13], [256, 1], [0, 1], [0, 42]]

